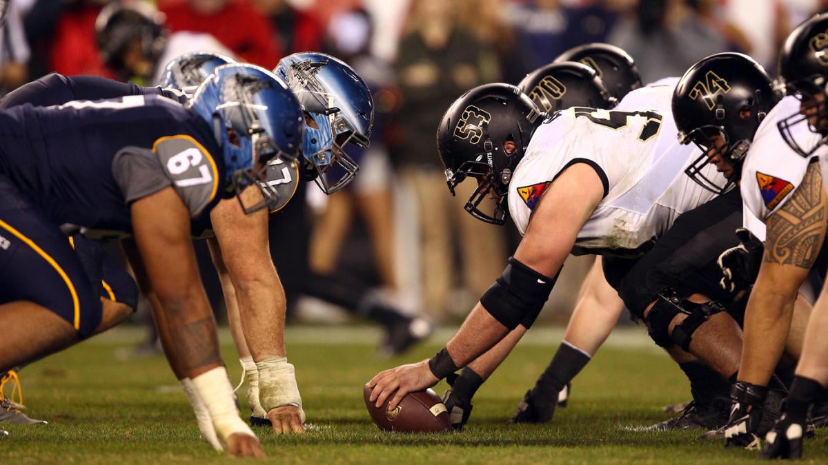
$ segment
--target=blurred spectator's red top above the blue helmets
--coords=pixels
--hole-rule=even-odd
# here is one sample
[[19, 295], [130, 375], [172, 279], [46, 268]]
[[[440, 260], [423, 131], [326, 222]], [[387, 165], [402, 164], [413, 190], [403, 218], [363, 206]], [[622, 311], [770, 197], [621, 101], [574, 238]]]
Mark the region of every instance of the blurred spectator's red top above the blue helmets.
[[276, 31], [250, 0], [160, 2], [170, 31], [209, 32], [240, 60], [272, 70], [282, 58]]

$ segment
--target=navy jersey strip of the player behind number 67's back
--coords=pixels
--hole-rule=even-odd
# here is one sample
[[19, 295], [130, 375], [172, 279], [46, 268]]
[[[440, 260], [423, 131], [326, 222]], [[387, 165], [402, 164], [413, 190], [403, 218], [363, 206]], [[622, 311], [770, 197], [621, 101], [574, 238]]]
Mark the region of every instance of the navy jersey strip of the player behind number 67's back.
[[65, 76], [52, 73], [7, 93], [0, 98], [0, 108], [15, 107], [23, 103], [31, 103], [36, 107], [48, 107], [71, 100], [100, 100], [125, 95], [152, 94], [172, 98], [180, 103], [187, 101], [186, 95], [175, 89], [142, 87], [98, 76]]

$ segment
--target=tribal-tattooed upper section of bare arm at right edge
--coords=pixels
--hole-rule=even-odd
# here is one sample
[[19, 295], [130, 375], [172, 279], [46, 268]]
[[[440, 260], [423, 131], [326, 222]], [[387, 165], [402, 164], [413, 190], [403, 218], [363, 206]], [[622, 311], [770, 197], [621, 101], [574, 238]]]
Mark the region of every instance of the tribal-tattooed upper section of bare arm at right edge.
[[819, 164], [808, 165], [791, 199], [768, 218], [764, 261], [809, 269], [826, 233], [828, 199]]

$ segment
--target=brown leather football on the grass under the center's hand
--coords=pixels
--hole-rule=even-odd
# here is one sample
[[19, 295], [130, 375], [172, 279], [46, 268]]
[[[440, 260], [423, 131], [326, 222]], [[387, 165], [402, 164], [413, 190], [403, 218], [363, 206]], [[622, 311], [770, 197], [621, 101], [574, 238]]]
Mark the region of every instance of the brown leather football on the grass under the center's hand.
[[373, 389], [368, 384], [363, 386], [365, 406], [379, 429], [400, 433], [444, 433], [452, 430], [448, 410], [445, 410], [440, 396], [431, 389], [409, 392], [394, 410], [388, 410], [388, 401], [377, 408], [368, 400], [371, 391]]

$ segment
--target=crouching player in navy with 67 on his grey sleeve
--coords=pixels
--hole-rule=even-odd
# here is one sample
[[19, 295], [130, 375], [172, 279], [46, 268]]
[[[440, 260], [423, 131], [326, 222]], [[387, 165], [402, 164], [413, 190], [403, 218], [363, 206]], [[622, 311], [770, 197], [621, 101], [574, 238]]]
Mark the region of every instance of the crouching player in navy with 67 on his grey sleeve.
[[[135, 95], [23, 105], [2, 110], [0, 120], [7, 134], [0, 188], [14, 200], [0, 207], [0, 231], [7, 250], [18, 254], [13, 260], [0, 254], [0, 319], [18, 328], [2, 341], [9, 350], [0, 351], [0, 369], [108, 327], [106, 307], [95, 304], [61, 226], [120, 234], [137, 280], [149, 290], [171, 367], [203, 402], [218, 441], [231, 455], [263, 455], [233, 402], [190, 220], [233, 196], [245, 213], [274, 202], [277, 193], [256, 181], [264, 180], [273, 157], [291, 162], [299, 153], [304, 124], [293, 94], [267, 70], [225, 65], [187, 107]], [[55, 292], [31, 287], [44, 276]]]

